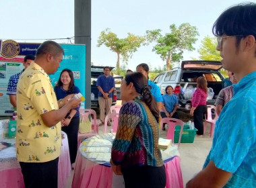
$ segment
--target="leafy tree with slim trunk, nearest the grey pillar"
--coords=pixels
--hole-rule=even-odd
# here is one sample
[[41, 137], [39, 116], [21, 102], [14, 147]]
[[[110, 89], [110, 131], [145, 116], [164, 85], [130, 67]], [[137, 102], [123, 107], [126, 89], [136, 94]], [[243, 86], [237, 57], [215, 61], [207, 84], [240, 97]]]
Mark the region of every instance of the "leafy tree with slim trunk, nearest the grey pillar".
[[120, 55], [123, 57], [123, 61], [127, 63], [128, 59], [132, 57], [133, 53], [137, 51], [141, 45], [145, 45], [145, 38], [143, 36], [135, 36], [128, 33], [127, 38], [118, 38], [117, 34], [110, 31], [109, 28], [102, 31], [98, 37], [97, 46], [100, 47], [104, 44], [110, 48], [113, 52], [117, 53], [117, 73], [120, 73]]

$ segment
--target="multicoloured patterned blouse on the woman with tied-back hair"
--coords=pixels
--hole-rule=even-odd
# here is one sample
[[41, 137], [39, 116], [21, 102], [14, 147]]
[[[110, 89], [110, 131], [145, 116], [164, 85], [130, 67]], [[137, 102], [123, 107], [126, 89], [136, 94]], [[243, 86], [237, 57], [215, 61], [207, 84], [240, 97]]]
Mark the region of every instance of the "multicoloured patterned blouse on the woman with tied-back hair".
[[146, 103], [137, 99], [129, 101], [120, 109], [111, 158], [122, 168], [143, 165], [162, 167], [164, 162], [158, 138], [158, 122]]

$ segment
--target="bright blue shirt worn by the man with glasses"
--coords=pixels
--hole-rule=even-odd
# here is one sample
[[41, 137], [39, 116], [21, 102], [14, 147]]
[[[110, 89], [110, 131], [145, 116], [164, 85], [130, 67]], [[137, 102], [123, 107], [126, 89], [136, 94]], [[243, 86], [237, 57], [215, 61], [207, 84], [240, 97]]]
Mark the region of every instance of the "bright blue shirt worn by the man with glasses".
[[256, 187], [256, 71], [233, 87], [203, 167], [212, 160], [218, 169], [232, 173], [224, 187]]

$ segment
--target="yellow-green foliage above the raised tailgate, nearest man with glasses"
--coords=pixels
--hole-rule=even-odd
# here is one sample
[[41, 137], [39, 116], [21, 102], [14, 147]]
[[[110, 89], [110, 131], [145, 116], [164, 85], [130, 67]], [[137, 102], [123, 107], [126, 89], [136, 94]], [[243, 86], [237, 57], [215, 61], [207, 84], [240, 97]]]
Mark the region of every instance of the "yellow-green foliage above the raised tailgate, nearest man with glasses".
[[217, 40], [216, 38], [210, 38], [206, 36], [201, 41], [201, 46], [198, 50], [200, 54], [200, 60], [221, 60], [220, 52], [216, 49]]

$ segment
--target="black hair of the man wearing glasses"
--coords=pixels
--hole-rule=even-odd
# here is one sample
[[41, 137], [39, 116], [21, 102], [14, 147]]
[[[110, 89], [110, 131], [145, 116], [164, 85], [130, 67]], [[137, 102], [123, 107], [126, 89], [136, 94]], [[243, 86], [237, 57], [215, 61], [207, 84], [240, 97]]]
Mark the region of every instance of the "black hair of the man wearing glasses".
[[256, 39], [256, 3], [241, 3], [226, 9], [215, 21], [215, 36], [236, 36], [236, 47], [242, 38], [253, 35]]

